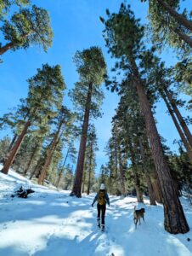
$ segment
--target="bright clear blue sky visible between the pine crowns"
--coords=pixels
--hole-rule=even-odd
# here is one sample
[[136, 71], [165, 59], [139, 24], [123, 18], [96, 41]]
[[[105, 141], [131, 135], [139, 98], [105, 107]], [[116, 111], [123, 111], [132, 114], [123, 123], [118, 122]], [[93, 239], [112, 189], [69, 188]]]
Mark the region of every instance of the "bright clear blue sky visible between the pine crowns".
[[[99, 21], [99, 16], [105, 16], [105, 9], [117, 11], [122, 1], [119, 0], [47, 0], [31, 1], [32, 3], [47, 9], [51, 17], [54, 30], [54, 43], [48, 53], [42, 49], [31, 47], [30, 49], [20, 49], [15, 52], [9, 51], [3, 55], [3, 64], [0, 64], [0, 115], [8, 112], [8, 108], [14, 108], [20, 98], [27, 94], [28, 84], [26, 79], [37, 73], [37, 68], [43, 63], [49, 65], [59, 64], [62, 67], [67, 89], [73, 88], [78, 80], [76, 67], [72, 62], [72, 57], [76, 50], [89, 48], [98, 45], [103, 49], [104, 57], [108, 69], [112, 67], [113, 61], [107, 54], [102, 38], [103, 24]], [[185, 1], [183, 7], [189, 6], [189, 0]], [[138, 0], [129, 0], [136, 17], [143, 23], [146, 22], [147, 3], [140, 3]], [[0, 34], [0, 42], [3, 41]], [[170, 49], [166, 49], [161, 55], [167, 66], [172, 65], [176, 59]], [[104, 88], [104, 86], [103, 86]], [[68, 91], [67, 90], [67, 91]], [[104, 156], [104, 146], [110, 137], [110, 121], [115, 114], [118, 103], [118, 96], [112, 94], [104, 88], [103, 118], [95, 121], [99, 138], [99, 152], [97, 153], [97, 171], [101, 164], [107, 161]], [[185, 97], [185, 96], [183, 96]], [[70, 99], [65, 93], [65, 105], [71, 107]], [[171, 118], [166, 113], [167, 109], [163, 102], [159, 102], [156, 108], [157, 127], [161, 136], [167, 139], [167, 145], [172, 150], [177, 150], [176, 145], [172, 145], [174, 139], [178, 139], [178, 132], [172, 124]], [[182, 110], [184, 115], [184, 109]], [[0, 137], [6, 135], [8, 131], [0, 131]]]

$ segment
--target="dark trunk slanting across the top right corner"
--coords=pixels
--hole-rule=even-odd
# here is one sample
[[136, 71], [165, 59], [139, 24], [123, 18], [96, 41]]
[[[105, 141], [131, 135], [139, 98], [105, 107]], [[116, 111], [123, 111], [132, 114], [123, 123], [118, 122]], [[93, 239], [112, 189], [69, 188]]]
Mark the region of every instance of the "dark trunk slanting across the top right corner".
[[187, 20], [184, 15], [180, 15], [178, 14], [177, 11], [175, 11], [174, 9], [172, 9], [172, 7], [165, 2], [165, 0], [156, 0], [159, 4], [161, 4], [161, 6], [163, 7], [163, 9], [166, 9], [167, 12], [172, 15], [172, 17], [175, 18], [175, 20], [178, 21], [179, 24], [185, 26], [186, 28], [188, 28], [191, 32], [192, 32], [192, 22], [190, 20]]

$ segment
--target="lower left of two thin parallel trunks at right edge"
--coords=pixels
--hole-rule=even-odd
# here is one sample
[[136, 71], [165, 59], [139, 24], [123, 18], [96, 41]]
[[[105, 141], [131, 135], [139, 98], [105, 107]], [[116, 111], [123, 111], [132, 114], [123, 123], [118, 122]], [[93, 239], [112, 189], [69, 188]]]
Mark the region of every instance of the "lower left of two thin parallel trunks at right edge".
[[189, 159], [190, 159], [191, 162], [192, 162], [192, 150], [191, 150], [191, 148], [190, 148], [190, 145], [189, 145], [188, 141], [186, 140], [183, 131], [181, 130], [180, 126], [178, 125], [178, 120], [176, 119], [174, 113], [172, 112], [172, 108], [171, 108], [171, 106], [169, 105], [169, 102], [167, 102], [166, 96], [162, 96], [162, 97], [163, 97], [164, 101], [166, 102], [166, 105], [167, 105], [168, 111], [169, 111], [169, 113], [170, 113], [170, 115], [171, 115], [171, 117], [172, 117], [173, 123], [175, 124], [175, 126], [176, 126], [176, 128], [177, 128], [177, 130], [178, 130], [178, 134], [179, 134], [179, 136], [181, 137], [181, 139], [182, 139], [182, 141], [183, 141], [183, 143], [184, 143], [184, 147], [185, 147], [186, 150], [187, 150], [187, 154], [189, 155]]

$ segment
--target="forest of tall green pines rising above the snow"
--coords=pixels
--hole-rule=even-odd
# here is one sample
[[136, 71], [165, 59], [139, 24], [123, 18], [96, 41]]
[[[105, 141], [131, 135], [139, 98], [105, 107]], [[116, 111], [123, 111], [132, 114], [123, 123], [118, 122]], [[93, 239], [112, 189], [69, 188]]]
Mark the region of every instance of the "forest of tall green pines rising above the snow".
[[[70, 90], [60, 63], [33, 68], [36, 71], [25, 81], [25, 98], [1, 112], [0, 172], [8, 175], [13, 169], [33, 183], [53, 184], [77, 198], [97, 192], [100, 183], [110, 195], [132, 195], [139, 203], [149, 196], [151, 206], [163, 206], [165, 230], [184, 234], [189, 224], [179, 197], [185, 195], [192, 204], [192, 5], [139, 0], [141, 9], [147, 6], [144, 24], [132, 2], [98, 16], [107, 56], [100, 45], [77, 48], [71, 59], [76, 83]], [[54, 28], [50, 13], [40, 5], [0, 0], [0, 68], [11, 66], [18, 52], [30, 52], [29, 63], [23, 63], [28, 69], [36, 48], [37, 55], [49, 55]], [[175, 55], [172, 65], [161, 59], [167, 49]], [[9, 76], [13, 83], [17, 73], [13, 79]], [[119, 102], [111, 106], [115, 114], [103, 152], [107, 161], [99, 166], [95, 124], [102, 119], [105, 90], [116, 94]], [[158, 102], [167, 108], [162, 119], [168, 113], [178, 132], [177, 152], [158, 131]]]

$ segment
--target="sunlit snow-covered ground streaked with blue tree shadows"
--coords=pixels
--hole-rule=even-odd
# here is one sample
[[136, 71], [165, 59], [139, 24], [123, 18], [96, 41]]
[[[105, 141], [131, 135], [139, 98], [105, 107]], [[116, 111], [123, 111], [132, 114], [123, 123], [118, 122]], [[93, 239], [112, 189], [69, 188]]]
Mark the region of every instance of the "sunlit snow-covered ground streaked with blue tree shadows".
[[[15, 188], [25, 184], [36, 192], [27, 199], [11, 198]], [[133, 197], [110, 196], [106, 231], [96, 226], [94, 195], [82, 199], [69, 192], [51, 190], [29, 182], [15, 172], [0, 173], [0, 255], [1, 256], [191, 256], [192, 231], [171, 235], [163, 228], [161, 205], [144, 201], [145, 223], [133, 224]], [[192, 209], [182, 199], [192, 229]], [[187, 239], [190, 238], [191, 241]]]

